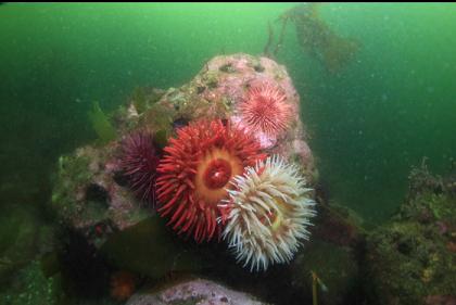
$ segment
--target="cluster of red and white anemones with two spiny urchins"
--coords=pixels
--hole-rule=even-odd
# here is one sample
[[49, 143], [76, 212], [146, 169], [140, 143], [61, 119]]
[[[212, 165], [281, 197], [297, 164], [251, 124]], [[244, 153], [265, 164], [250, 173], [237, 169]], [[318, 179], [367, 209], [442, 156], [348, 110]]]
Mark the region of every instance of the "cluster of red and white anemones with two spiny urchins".
[[179, 234], [197, 242], [223, 237], [251, 270], [265, 270], [292, 259], [308, 238], [314, 202], [297, 167], [277, 155], [266, 158], [255, 137], [287, 129], [291, 107], [284, 93], [253, 88], [240, 111], [249, 128], [192, 122], [177, 130], [160, 163], [150, 136], [139, 132], [127, 138], [123, 164], [137, 193], [156, 193], [159, 214]]

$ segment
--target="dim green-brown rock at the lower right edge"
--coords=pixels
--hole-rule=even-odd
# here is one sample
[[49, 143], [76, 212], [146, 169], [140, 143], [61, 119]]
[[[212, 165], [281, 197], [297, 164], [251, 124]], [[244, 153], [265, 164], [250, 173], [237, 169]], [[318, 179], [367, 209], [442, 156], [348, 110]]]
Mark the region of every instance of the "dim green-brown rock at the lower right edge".
[[446, 187], [453, 182], [423, 167], [410, 177], [397, 215], [367, 238], [369, 304], [452, 304], [456, 297], [456, 198]]

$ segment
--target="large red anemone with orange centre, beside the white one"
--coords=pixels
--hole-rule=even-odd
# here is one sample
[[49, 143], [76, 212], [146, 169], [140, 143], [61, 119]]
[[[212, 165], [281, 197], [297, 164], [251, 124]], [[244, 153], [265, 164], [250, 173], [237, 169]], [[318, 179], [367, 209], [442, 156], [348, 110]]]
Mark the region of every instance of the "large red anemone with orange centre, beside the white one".
[[159, 165], [157, 199], [161, 216], [178, 233], [197, 242], [220, 233], [218, 203], [228, 196], [229, 180], [265, 157], [258, 143], [221, 120], [199, 120], [177, 130]]

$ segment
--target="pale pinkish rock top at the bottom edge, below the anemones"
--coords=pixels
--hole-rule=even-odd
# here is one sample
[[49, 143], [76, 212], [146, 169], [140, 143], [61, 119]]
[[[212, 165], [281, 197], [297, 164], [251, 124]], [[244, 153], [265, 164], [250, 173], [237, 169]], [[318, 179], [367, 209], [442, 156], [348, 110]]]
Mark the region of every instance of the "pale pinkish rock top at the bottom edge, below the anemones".
[[194, 279], [157, 291], [137, 293], [126, 303], [126, 305], [148, 304], [261, 305], [266, 303], [257, 301], [252, 295], [233, 291], [219, 283], [204, 279]]

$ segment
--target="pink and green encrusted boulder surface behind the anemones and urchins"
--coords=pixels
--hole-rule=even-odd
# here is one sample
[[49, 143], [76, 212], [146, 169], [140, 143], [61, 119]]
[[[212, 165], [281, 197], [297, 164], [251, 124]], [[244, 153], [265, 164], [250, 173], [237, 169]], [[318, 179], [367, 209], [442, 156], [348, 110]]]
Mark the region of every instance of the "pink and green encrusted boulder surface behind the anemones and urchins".
[[249, 90], [265, 84], [283, 94], [290, 109], [290, 115], [286, 116], [289, 122], [277, 137], [261, 132], [254, 136], [265, 153], [280, 154], [299, 164], [312, 185], [316, 171], [300, 119], [300, 97], [286, 68], [268, 58], [242, 53], [220, 55], [208, 61], [188, 84], [154, 94], [153, 102], [147, 100], [147, 94], [134, 94], [129, 104], [114, 114], [118, 139], [101, 147], [83, 147], [60, 158], [52, 207], [61, 223], [101, 246], [113, 232], [153, 216], [155, 212], [135, 198], [122, 175], [123, 139], [136, 130], [147, 129], [164, 145], [176, 129], [201, 118], [231, 122], [249, 130], [240, 105]]

